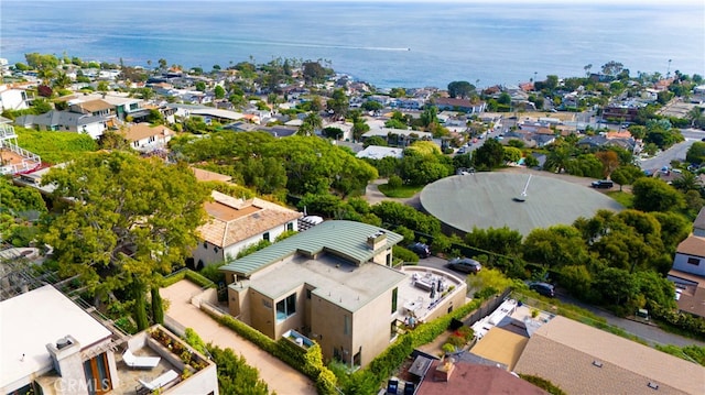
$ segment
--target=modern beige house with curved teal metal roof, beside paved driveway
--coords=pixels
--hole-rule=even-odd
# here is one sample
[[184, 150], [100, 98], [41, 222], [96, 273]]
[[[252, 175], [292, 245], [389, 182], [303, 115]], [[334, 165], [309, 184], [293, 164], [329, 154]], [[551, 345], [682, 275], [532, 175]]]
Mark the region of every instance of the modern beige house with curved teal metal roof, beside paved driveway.
[[[230, 314], [272, 339], [315, 340], [323, 356], [364, 366], [389, 347], [400, 234], [361, 222], [325, 221], [224, 265]], [[292, 334], [293, 333], [293, 334]]]

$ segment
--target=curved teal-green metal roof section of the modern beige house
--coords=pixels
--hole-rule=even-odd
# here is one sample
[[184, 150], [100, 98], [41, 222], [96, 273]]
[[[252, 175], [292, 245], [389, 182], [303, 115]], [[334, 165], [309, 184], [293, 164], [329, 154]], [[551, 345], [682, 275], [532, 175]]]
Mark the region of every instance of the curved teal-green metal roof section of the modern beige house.
[[[387, 242], [372, 251], [367, 244], [367, 239], [381, 232], [387, 235]], [[220, 270], [250, 276], [262, 267], [296, 253], [313, 256], [323, 251], [344, 257], [351, 263], [362, 264], [402, 239], [401, 234], [362, 222], [325, 221], [263, 250], [230, 261]]]

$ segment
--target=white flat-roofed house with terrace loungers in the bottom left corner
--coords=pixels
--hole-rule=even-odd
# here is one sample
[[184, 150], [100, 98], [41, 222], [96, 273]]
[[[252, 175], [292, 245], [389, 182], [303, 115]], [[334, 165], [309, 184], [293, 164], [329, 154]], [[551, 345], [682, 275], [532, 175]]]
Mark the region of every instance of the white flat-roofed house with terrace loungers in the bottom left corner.
[[128, 336], [87, 311], [52, 285], [0, 301], [0, 394], [218, 394], [216, 365], [174, 333], [149, 330], [178, 342], [198, 370], [150, 332]]

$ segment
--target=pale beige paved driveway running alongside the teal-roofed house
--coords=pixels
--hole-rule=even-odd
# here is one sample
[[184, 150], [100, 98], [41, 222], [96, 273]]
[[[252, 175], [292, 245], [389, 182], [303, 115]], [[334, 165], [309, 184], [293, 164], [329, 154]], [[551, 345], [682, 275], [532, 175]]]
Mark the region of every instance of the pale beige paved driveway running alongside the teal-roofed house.
[[169, 299], [171, 303], [166, 316], [184, 328], [195, 330], [206, 343], [212, 342], [214, 345], [223, 349], [230, 348], [236, 353], [240, 353], [247, 360], [248, 365], [259, 371], [260, 378], [267, 383], [270, 393], [276, 392], [279, 395], [316, 394], [308, 377], [242, 339], [229, 328], [219, 325], [210, 316], [192, 305], [188, 300], [199, 290], [197, 285], [187, 279], [162, 288], [160, 290], [162, 298]]

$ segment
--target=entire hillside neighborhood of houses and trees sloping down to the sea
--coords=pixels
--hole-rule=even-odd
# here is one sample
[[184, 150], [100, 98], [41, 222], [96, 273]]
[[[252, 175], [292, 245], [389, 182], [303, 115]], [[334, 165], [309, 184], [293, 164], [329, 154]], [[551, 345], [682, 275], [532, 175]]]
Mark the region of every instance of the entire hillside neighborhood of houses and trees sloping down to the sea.
[[703, 76], [0, 67], [6, 394], [705, 393]]

